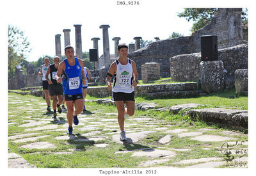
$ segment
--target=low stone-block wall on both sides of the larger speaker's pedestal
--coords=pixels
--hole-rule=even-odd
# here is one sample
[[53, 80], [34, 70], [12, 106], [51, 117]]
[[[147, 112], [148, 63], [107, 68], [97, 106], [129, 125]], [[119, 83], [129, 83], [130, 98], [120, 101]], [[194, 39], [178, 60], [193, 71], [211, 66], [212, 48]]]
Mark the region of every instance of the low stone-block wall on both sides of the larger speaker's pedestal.
[[[248, 68], [248, 44], [218, 50], [218, 60], [224, 64], [225, 88], [234, 87], [234, 73]], [[172, 81], [196, 81], [200, 77], [201, 53], [181, 54], [170, 58]]]

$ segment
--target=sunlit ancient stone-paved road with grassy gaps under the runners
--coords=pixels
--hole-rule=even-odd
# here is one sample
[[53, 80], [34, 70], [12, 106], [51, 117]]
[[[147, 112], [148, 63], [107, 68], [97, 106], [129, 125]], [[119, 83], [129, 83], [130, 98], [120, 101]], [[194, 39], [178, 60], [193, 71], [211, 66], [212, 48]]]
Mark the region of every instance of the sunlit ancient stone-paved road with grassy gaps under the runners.
[[[36, 104], [40, 104], [40, 107], [33, 108], [28, 106], [28, 103], [33, 106], [35, 102]], [[122, 142], [119, 140], [120, 132], [116, 120], [117, 113], [109, 111], [108, 113], [104, 113], [102, 110], [97, 110], [91, 114], [83, 113], [79, 115], [79, 125], [74, 125], [74, 135], [67, 135], [65, 134], [68, 127], [65, 112], [61, 113], [61, 115], [58, 114], [57, 120], [52, 120], [52, 114], [44, 113], [46, 106], [42, 101], [37, 99], [21, 100], [18, 96], [9, 95], [9, 104], [17, 103], [19, 103], [19, 106], [9, 108], [8, 110], [8, 125], [9, 127], [16, 125], [19, 130], [8, 136], [8, 140], [11, 144], [20, 145], [20, 148], [36, 149], [38, 151], [44, 148], [56, 148], [57, 146], [51, 143], [51, 140], [60, 140], [62, 142], [93, 142], [92, 147], [106, 150], [111, 143], [116, 143], [117, 145], [143, 145], [145, 142], [150, 143], [148, 140], [152, 136], [155, 135], [157, 137], [158, 134], [161, 134], [161, 138], [157, 138], [157, 141], [153, 141], [152, 145], [148, 145], [150, 147], [139, 147], [123, 151], [116, 150], [115, 154], [131, 153], [131, 157], [146, 157], [147, 159], [145, 161], [138, 163], [138, 167], [248, 167], [248, 156], [241, 154], [241, 151], [248, 152], [248, 141], [241, 141], [241, 138], [247, 138], [247, 134], [210, 128], [196, 129], [189, 126], [180, 126], [180, 124], [171, 124], [170, 122], [147, 116], [128, 116], [125, 120], [127, 141]], [[90, 109], [90, 106], [86, 109]], [[23, 116], [22, 120], [10, 119], [10, 117], [16, 115], [13, 111], [20, 112], [25, 110], [26, 115]], [[35, 116], [35, 111], [38, 114], [43, 113], [43, 115]], [[49, 132], [57, 132], [58, 136], [51, 136]], [[177, 145], [177, 143], [180, 143], [180, 140], [185, 143]], [[104, 142], [102, 143], [102, 141]], [[68, 145], [76, 144], [69, 142]], [[72, 154], [77, 151], [83, 151], [83, 149], [69, 148], [67, 151], [49, 152], [49, 154]], [[200, 155], [194, 156], [195, 152]], [[212, 152], [211, 156], [205, 155], [207, 152]], [[224, 158], [226, 155], [223, 152], [231, 152], [232, 156], [235, 157], [233, 161], [225, 161]], [[180, 159], [180, 156], [186, 155], [188, 159]], [[12, 150], [8, 151], [8, 156], [9, 168], [35, 167], [22, 158], [20, 154], [13, 153]]]

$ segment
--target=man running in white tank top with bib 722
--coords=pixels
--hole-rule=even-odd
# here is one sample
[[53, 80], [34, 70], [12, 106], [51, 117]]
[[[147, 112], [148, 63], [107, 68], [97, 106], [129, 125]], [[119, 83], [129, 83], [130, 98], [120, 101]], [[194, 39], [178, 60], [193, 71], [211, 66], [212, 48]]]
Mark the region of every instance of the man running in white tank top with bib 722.
[[[117, 50], [119, 58], [110, 65], [106, 83], [108, 84], [108, 89], [112, 89], [112, 98], [118, 111], [118, 124], [121, 131], [120, 140], [125, 141], [127, 138], [124, 131], [124, 116], [125, 114], [134, 115], [134, 87], [138, 84], [138, 72], [135, 62], [127, 58], [128, 46], [119, 44]], [[113, 86], [110, 83], [112, 76], [115, 76]], [[124, 108], [124, 103], [126, 108]]]

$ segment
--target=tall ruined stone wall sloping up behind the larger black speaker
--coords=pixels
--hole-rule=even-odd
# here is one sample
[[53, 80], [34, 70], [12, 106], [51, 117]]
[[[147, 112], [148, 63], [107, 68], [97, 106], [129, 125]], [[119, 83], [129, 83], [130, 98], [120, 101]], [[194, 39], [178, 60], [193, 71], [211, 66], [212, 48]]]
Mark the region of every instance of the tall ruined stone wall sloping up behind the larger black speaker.
[[128, 58], [136, 62], [139, 79], [141, 79], [141, 65], [150, 61], [160, 63], [161, 77], [172, 77], [170, 58], [180, 54], [200, 52], [200, 36], [202, 35], [217, 35], [218, 49], [242, 44], [241, 12], [241, 8], [220, 8], [211, 23], [193, 35], [152, 42], [128, 54]]

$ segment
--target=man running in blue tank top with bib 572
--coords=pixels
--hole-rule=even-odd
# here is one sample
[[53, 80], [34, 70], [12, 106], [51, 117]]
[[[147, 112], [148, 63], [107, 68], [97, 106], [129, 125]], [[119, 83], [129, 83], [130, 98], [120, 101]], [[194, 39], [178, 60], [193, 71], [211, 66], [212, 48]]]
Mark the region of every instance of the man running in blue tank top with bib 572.
[[[70, 45], [65, 47], [67, 59], [61, 61], [56, 74], [57, 83], [63, 81], [63, 95], [67, 105], [67, 134], [72, 134], [73, 120], [77, 125], [79, 120], [77, 115], [83, 111], [83, 84], [86, 84], [86, 77], [83, 72], [83, 61], [74, 57], [74, 48]], [[64, 75], [64, 78], [61, 77]], [[75, 106], [75, 111], [74, 111]]]

